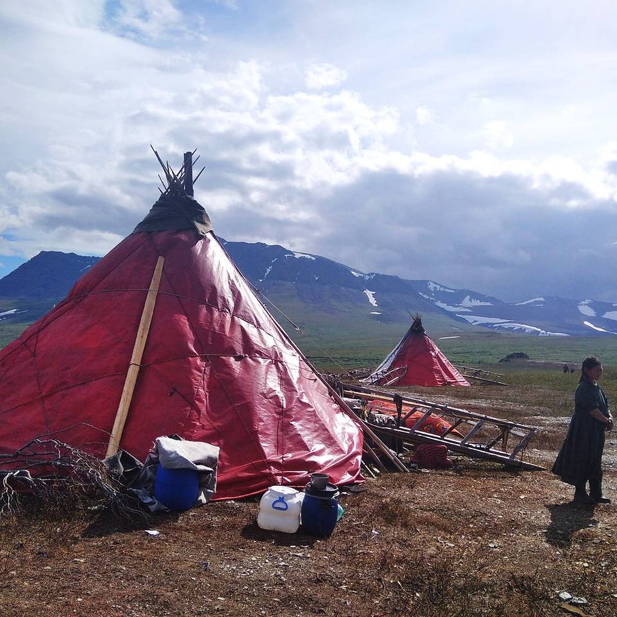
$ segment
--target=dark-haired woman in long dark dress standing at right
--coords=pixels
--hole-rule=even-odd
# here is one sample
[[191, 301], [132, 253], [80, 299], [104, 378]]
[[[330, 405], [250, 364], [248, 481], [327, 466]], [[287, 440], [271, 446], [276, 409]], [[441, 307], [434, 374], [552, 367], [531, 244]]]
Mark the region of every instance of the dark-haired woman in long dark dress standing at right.
[[574, 501], [586, 505], [611, 502], [602, 496], [602, 450], [605, 431], [613, 428], [613, 416], [607, 397], [597, 383], [600, 375], [600, 360], [585, 358], [574, 394], [574, 415], [568, 436], [552, 470], [563, 482], [574, 485]]

